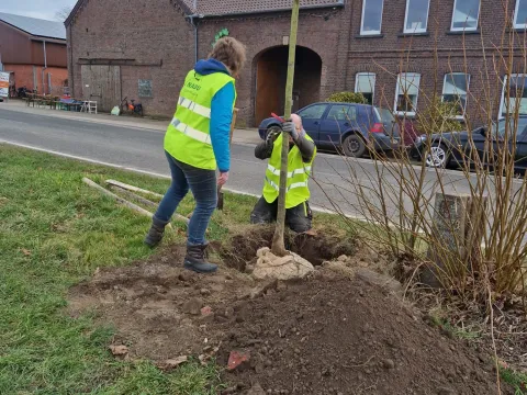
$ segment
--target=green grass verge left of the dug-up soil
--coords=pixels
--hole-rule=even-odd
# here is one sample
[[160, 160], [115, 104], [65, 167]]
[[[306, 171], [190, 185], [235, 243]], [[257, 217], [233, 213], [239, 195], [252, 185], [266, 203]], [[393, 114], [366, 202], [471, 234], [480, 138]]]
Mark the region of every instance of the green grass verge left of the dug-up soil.
[[[143, 245], [149, 218], [85, 185], [85, 176], [159, 193], [169, 184], [0, 145], [0, 394], [215, 394], [221, 384], [214, 364], [191, 362], [166, 374], [148, 361], [116, 361], [108, 351], [113, 328], [64, 313], [68, 287], [96, 268], [152, 253]], [[254, 203], [226, 200], [236, 211], [228, 218], [215, 214], [211, 238], [225, 237], [229, 222], [248, 218]], [[180, 212], [191, 210], [187, 200]], [[178, 241], [177, 235], [167, 235], [168, 241]]]

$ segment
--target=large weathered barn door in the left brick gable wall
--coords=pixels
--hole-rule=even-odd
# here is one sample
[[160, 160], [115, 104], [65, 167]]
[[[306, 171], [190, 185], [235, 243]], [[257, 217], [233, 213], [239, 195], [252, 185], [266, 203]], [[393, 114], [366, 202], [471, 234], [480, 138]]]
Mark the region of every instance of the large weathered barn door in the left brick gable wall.
[[97, 101], [101, 111], [121, 103], [121, 67], [82, 65], [82, 99]]

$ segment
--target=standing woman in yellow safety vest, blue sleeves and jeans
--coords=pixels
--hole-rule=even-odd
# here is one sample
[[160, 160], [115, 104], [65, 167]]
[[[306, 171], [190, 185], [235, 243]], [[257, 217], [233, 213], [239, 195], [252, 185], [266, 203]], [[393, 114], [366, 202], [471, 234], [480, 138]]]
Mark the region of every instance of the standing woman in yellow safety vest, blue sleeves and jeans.
[[165, 136], [172, 183], [154, 214], [145, 244], [155, 247], [161, 241], [165, 226], [190, 190], [197, 205], [188, 229], [184, 268], [199, 273], [217, 270], [205, 261], [205, 232], [216, 208], [217, 187], [228, 179], [235, 77], [245, 59], [243, 44], [233, 37], [218, 40], [209, 59], [198, 61], [187, 75]]

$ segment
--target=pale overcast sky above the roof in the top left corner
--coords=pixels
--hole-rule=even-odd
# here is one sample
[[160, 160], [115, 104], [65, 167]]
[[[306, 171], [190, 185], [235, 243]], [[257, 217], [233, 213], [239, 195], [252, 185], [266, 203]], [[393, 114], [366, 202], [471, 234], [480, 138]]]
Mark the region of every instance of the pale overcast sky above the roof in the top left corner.
[[0, 12], [56, 20], [56, 12], [64, 7], [72, 8], [77, 0], [0, 0]]

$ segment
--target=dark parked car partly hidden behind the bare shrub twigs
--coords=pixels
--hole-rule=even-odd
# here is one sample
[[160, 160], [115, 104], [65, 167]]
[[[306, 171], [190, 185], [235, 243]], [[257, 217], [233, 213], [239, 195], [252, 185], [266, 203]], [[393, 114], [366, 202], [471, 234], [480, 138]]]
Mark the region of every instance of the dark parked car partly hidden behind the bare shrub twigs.
[[[515, 123], [509, 120], [511, 127], [508, 134], [513, 134]], [[419, 136], [412, 150], [412, 156], [415, 159], [422, 159], [426, 155], [425, 161], [429, 167], [435, 168], [449, 168], [460, 167], [466, 163], [469, 158], [473, 158], [471, 155], [471, 147], [478, 150], [478, 156], [482, 160], [483, 165], [489, 163], [490, 145], [494, 144], [493, 150], [497, 153], [504, 148], [504, 138], [506, 131], [506, 121], [501, 120], [497, 124], [494, 124], [492, 131], [489, 131], [486, 126], [481, 126], [472, 132], [448, 132], [433, 134], [427, 137], [426, 135]], [[513, 147], [513, 137], [509, 137], [508, 146], [509, 151]], [[430, 148], [426, 150], [427, 145]], [[516, 150], [515, 150], [515, 168], [517, 170], [525, 171], [527, 168], [527, 116], [520, 116], [517, 123], [516, 133]]]

